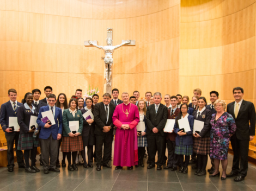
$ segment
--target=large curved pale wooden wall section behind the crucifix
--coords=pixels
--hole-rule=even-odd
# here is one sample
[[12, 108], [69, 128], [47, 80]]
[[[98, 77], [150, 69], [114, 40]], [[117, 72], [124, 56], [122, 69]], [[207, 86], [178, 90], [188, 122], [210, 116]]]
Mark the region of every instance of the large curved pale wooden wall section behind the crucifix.
[[103, 52], [83, 42], [106, 45], [107, 27], [114, 29], [114, 45], [137, 43], [115, 51], [113, 87], [138, 90], [141, 97], [146, 91], [178, 93], [179, 0], [1, 0], [0, 103], [9, 88], [19, 101], [47, 85], [68, 97], [93, 85], [101, 95]]

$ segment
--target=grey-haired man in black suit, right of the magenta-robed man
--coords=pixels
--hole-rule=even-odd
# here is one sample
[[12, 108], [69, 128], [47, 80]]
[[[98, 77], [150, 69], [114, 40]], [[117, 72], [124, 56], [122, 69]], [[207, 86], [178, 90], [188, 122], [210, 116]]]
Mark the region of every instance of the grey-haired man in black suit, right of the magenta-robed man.
[[[165, 134], [163, 128], [167, 122], [168, 109], [161, 104], [162, 95], [160, 92], [154, 93], [155, 104], [150, 105], [146, 113], [147, 140], [149, 152], [148, 169], [154, 168], [157, 164], [157, 170], [162, 170], [164, 160]], [[157, 162], [155, 156], [157, 151]]]

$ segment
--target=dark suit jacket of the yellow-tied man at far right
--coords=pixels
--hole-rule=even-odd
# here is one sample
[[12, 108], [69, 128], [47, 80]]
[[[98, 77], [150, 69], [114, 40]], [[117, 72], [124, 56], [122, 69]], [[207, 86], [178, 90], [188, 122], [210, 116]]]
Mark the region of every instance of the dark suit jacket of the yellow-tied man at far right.
[[237, 139], [249, 139], [255, 135], [255, 108], [252, 102], [243, 100], [237, 117], [234, 113], [235, 101], [228, 104], [227, 112], [232, 115], [236, 123], [235, 136]]

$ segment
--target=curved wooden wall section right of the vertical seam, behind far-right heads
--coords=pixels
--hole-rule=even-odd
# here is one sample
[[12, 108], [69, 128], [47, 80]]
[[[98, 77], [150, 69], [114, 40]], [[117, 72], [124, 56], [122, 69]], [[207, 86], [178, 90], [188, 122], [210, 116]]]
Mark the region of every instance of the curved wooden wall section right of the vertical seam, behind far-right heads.
[[181, 0], [179, 91], [216, 90], [226, 103], [241, 86], [255, 104], [255, 0]]

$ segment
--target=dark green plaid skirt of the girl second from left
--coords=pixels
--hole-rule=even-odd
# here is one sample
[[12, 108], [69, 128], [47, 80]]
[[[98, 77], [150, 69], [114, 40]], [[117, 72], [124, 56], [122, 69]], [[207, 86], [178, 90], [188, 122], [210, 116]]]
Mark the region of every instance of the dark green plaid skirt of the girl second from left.
[[31, 150], [34, 147], [39, 147], [39, 138], [33, 138], [33, 133], [20, 133], [17, 150]]

